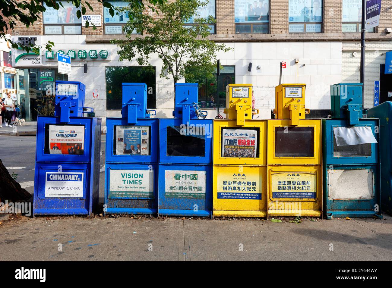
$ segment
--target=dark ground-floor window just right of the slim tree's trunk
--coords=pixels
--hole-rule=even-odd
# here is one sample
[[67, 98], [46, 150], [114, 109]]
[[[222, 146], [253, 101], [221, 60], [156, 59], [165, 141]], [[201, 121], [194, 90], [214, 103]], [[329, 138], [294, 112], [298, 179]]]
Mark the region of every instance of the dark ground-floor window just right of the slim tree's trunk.
[[235, 66], [223, 66], [220, 69], [219, 83], [214, 73], [205, 73], [198, 67], [187, 67], [185, 69], [186, 83], [198, 83], [199, 95], [198, 104], [201, 108], [217, 107], [219, 95], [219, 107], [226, 106], [226, 86], [236, 83]]

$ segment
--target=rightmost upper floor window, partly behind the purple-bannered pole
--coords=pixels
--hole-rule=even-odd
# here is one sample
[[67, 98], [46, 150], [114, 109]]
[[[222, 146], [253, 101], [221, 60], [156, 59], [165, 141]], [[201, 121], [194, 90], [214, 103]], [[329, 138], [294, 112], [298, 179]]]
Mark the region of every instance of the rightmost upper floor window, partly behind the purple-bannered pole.
[[[361, 32], [362, 25], [362, 0], [343, 0], [342, 7], [342, 32]], [[374, 32], [374, 28], [365, 32]]]

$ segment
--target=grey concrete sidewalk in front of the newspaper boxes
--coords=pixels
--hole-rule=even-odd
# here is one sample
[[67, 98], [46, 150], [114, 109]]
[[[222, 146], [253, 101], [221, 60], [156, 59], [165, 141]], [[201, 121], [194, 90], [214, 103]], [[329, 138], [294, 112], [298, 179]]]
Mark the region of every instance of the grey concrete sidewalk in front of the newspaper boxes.
[[385, 218], [304, 219], [295, 224], [262, 219], [20, 216], [0, 225], [0, 251], [6, 252], [0, 261], [390, 261], [392, 218]]

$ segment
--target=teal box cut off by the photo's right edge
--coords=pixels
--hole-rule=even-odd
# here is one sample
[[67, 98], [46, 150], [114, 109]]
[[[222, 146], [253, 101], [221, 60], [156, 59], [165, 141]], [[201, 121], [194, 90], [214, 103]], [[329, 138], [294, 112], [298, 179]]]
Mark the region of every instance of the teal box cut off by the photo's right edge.
[[367, 110], [368, 117], [380, 121], [381, 206], [392, 215], [392, 102]]

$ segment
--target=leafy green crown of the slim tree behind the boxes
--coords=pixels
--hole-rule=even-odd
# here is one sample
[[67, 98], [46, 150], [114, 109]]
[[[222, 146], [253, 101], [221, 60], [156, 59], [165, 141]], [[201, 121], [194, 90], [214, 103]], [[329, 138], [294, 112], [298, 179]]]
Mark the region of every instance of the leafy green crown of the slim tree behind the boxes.
[[[139, 65], [151, 65], [151, 54], [156, 53], [163, 62], [161, 78], [177, 83], [185, 76], [201, 78], [198, 75], [201, 72], [205, 73], [202, 77], [208, 78], [216, 67], [216, 53], [228, 52], [231, 48], [208, 40], [210, 28], [207, 23], [215, 23], [215, 19], [197, 15], [198, 8], [207, 4], [201, 0], [158, 3], [156, 9], [160, 13], [159, 18], [154, 17], [154, 13], [122, 8], [122, 11], [130, 14], [124, 27], [126, 40], [112, 40], [119, 47], [120, 61], [136, 59]], [[193, 25], [184, 25], [195, 15]], [[132, 34], [134, 30], [141, 35], [135, 38], [135, 34]]]

